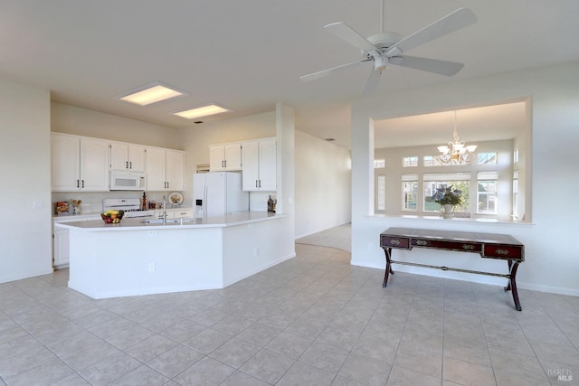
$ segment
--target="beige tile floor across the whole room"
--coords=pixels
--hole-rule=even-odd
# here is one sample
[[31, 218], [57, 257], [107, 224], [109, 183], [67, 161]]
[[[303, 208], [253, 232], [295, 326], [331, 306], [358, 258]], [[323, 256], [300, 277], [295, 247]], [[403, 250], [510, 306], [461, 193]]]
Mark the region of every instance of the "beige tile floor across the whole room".
[[517, 312], [501, 287], [399, 272], [382, 288], [345, 250], [296, 252], [222, 290], [1, 284], [0, 385], [579, 384], [579, 297], [521, 290]]

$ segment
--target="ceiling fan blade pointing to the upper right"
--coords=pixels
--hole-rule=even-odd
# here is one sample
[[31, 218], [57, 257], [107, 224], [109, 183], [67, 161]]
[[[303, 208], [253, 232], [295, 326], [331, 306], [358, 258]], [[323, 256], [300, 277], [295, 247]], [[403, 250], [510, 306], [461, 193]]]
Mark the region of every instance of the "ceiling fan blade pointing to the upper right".
[[448, 33], [453, 33], [461, 28], [467, 27], [470, 24], [477, 22], [477, 16], [468, 8], [459, 8], [451, 14], [447, 14], [440, 20], [427, 25], [422, 30], [417, 31], [410, 36], [404, 38], [400, 42], [395, 43], [386, 52], [388, 56], [400, 55], [402, 52], [412, 50], [419, 45], [426, 42], [432, 42]]

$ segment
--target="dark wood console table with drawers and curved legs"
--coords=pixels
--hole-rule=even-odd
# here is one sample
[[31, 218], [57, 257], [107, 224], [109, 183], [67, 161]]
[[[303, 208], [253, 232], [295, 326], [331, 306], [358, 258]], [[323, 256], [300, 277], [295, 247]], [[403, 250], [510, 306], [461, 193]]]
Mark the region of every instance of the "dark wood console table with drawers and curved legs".
[[[508, 278], [508, 285], [505, 287], [505, 290], [510, 290], [512, 292], [517, 311], [522, 309], [521, 304], [518, 301], [517, 281], [515, 278], [517, 276], [518, 265], [525, 261], [525, 246], [510, 235], [461, 231], [415, 230], [409, 228], [388, 228], [386, 231], [380, 233], [380, 247], [384, 249], [384, 254], [386, 255], [386, 269], [382, 287], [386, 287], [386, 284], [388, 283], [388, 274], [394, 275], [394, 270], [392, 269], [393, 263], [422, 268], [439, 268], [442, 270], [496, 276], [499, 278]], [[427, 264], [417, 264], [406, 261], [395, 261], [391, 259], [393, 248], [408, 250], [413, 248], [429, 248], [479, 253], [481, 258], [507, 260], [508, 274], [503, 275], [469, 269], [448, 268], [431, 266]]]

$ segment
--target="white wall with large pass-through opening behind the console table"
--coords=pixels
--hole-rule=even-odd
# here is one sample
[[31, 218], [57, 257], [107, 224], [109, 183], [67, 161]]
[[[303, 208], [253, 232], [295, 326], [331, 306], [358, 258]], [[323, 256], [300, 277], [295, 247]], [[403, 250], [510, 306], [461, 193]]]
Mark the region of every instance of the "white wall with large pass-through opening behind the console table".
[[[532, 224], [427, 221], [371, 215], [374, 195], [373, 118], [394, 118], [526, 98], [530, 98], [532, 122], [532, 155], [526, 163], [532, 164], [532, 175], [525, 184], [527, 200], [529, 197], [532, 200], [527, 202], [527, 205], [532, 205]], [[519, 287], [579, 296], [579, 252], [574, 245], [579, 210], [573, 201], [574, 195], [579, 192], [576, 172], [579, 162], [576, 151], [579, 144], [577, 106], [578, 62], [457, 80], [356, 101], [352, 108], [352, 263], [384, 268], [384, 252], [377, 246], [380, 232], [391, 226], [508, 233], [526, 246], [526, 261], [517, 273]], [[433, 260], [429, 252], [432, 251], [416, 249], [397, 253], [397, 258], [412, 258], [427, 263]], [[450, 255], [441, 256], [444, 259]], [[469, 259], [470, 267], [483, 270], [499, 268], [506, 272], [506, 263], [488, 260]], [[394, 268], [486, 283], [505, 282], [504, 279], [426, 268]], [[525, 307], [524, 297], [521, 302]]]

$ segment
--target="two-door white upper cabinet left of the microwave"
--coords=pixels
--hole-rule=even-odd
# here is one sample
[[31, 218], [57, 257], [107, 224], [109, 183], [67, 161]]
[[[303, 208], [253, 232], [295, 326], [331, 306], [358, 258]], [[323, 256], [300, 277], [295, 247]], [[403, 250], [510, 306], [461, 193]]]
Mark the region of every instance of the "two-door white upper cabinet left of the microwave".
[[52, 192], [109, 191], [109, 142], [52, 133]]

